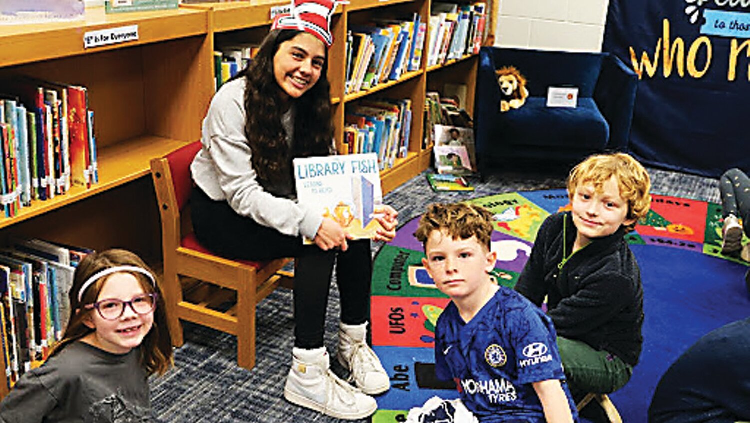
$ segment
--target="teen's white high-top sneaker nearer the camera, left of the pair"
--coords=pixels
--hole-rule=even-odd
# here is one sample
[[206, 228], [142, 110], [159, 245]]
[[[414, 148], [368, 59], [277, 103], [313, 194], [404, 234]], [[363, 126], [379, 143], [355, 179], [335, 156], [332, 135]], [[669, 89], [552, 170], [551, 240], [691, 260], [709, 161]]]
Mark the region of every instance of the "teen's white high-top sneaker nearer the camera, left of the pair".
[[375, 413], [375, 398], [341, 380], [330, 363], [326, 347], [295, 347], [284, 398], [338, 419], [364, 419]]

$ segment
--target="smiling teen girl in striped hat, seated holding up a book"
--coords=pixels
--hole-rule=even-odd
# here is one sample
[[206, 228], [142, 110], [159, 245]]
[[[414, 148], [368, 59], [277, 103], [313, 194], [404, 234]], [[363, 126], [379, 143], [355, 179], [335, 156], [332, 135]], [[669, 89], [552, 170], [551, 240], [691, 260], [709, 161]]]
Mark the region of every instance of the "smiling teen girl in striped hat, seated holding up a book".
[[[193, 228], [208, 249], [229, 258], [295, 258], [293, 366], [284, 396], [341, 419], [377, 409], [368, 394], [390, 388], [366, 342], [370, 240], [348, 239], [339, 222], [296, 201], [292, 160], [326, 156], [333, 128], [328, 70], [332, 0], [297, 0], [277, 18], [247, 70], [222, 85], [202, 126], [191, 165]], [[396, 211], [385, 207], [377, 240], [392, 240]], [[305, 246], [302, 237], [314, 240]], [[334, 264], [341, 292], [338, 359], [359, 389], [329, 367], [323, 345]]]

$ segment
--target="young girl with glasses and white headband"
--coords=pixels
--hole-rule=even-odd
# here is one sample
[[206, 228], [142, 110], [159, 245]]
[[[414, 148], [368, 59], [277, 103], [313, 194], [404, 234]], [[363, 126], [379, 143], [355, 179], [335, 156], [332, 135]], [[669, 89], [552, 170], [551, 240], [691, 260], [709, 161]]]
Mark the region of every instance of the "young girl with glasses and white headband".
[[13, 386], [0, 421], [148, 421], [148, 376], [172, 366], [154, 273], [132, 252], [95, 252], [78, 266], [70, 296], [65, 336]]

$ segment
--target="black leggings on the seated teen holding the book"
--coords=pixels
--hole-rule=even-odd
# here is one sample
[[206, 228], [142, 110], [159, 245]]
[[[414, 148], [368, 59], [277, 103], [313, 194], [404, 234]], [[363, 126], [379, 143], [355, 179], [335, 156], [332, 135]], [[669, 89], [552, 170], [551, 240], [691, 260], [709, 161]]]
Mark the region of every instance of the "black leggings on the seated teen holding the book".
[[[193, 229], [206, 248], [226, 258], [270, 260], [295, 258], [295, 347], [323, 347], [326, 309], [334, 263], [341, 293], [341, 321], [361, 324], [370, 315], [372, 254], [370, 240], [349, 242], [346, 252], [305, 246], [302, 237], [281, 234], [247, 216], [226, 201], [214, 201], [197, 187], [190, 197]], [[338, 260], [337, 260], [338, 258]]]

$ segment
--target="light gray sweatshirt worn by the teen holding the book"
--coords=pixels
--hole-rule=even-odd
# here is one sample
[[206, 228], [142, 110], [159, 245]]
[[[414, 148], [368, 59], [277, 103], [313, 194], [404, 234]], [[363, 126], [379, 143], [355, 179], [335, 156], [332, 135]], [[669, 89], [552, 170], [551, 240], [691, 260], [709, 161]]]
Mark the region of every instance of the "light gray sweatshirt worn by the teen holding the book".
[[[195, 183], [213, 200], [226, 200], [242, 216], [282, 234], [313, 239], [323, 216], [296, 200], [263, 189], [251, 163], [245, 136], [245, 78], [221, 86], [203, 119], [202, 149], [190, 171]], [[294, 132], [294, 107], [282, 117], [288, 139]]]

